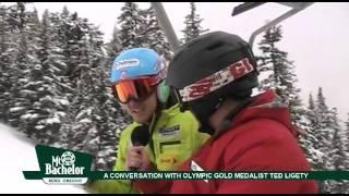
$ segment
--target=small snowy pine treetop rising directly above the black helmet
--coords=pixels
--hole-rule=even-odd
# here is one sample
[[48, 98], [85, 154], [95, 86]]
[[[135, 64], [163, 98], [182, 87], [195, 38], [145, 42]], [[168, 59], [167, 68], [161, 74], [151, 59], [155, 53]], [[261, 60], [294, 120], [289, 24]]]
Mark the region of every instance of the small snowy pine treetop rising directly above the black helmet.
[[204, 29], [201, 26], [203, 19], [201, 19], [200, 14], [196, 13], [196, 5], [194, 2], [190, 2], [190, 13], [185, 16], [185, 27], [182, 30], [184, 34], [183, 39], [181, 40], [182, 44], [190, 41], [193, 38], [198, 37], [200, 35], [208, 32], [209, 29]]

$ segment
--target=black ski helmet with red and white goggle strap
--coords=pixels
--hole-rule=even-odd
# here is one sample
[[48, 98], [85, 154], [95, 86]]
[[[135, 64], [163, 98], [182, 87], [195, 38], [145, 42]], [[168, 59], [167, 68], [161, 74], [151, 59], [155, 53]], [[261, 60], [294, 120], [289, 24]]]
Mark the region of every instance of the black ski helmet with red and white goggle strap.
[[258, 85], [257, 75], [246, 41], [233, 34], [213, 32], [179, 49], [170, 61], [167, 84], [177, 90], [181, 103], [190, 106], [202, 126], [210, 128], [208, 118], [221, 100], [250, 97]]

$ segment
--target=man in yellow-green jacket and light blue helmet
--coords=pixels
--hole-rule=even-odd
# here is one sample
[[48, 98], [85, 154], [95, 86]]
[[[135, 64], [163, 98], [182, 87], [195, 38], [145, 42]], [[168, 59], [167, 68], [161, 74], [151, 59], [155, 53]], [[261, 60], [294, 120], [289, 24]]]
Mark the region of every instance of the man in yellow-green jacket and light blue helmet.
[[[166, 71], [164, 60], [147, 48], [129, 49], [116, 58], [111, 69], [113, 95], [134, 122], [121, 133], [115, 171], [129, 170], [127, 154], [137, 126], [147, 127], [146, 154], [160, 171], [176, 170], [208, 138], [197, 131], [200, 124], [190, 111], [181, 112], [177, 103], [168, 106], [171, 99], [164, 79]], [[136, 162], [133, 166], [139, 167]], [[88, 191], [137, 193], [129, 180], [94, 181]]]

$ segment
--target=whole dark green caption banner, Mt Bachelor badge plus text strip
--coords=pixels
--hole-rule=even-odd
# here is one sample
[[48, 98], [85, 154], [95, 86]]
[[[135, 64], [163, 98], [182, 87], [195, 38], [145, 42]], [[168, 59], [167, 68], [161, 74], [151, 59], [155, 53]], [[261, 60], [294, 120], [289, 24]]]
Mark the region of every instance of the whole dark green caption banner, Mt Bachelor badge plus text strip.
[[26, 180], [47, 184], [84, 184], [88, 180], [349, 180], [349, 171], [91, 171], [92, 156], [37, 145], [40, 171], [23, 171]]

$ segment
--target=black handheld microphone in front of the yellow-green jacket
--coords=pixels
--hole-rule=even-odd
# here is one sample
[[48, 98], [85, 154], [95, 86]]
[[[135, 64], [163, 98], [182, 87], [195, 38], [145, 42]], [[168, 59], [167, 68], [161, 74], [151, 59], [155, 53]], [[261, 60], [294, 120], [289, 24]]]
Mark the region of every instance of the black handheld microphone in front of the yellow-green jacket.
[[[132, 146], [146, 146], [149, 142], [149, 135], [147, 125], [136, 126], [131, 134]], [[137, 168], [131, 167], [130, 170], [136, 171]]]

